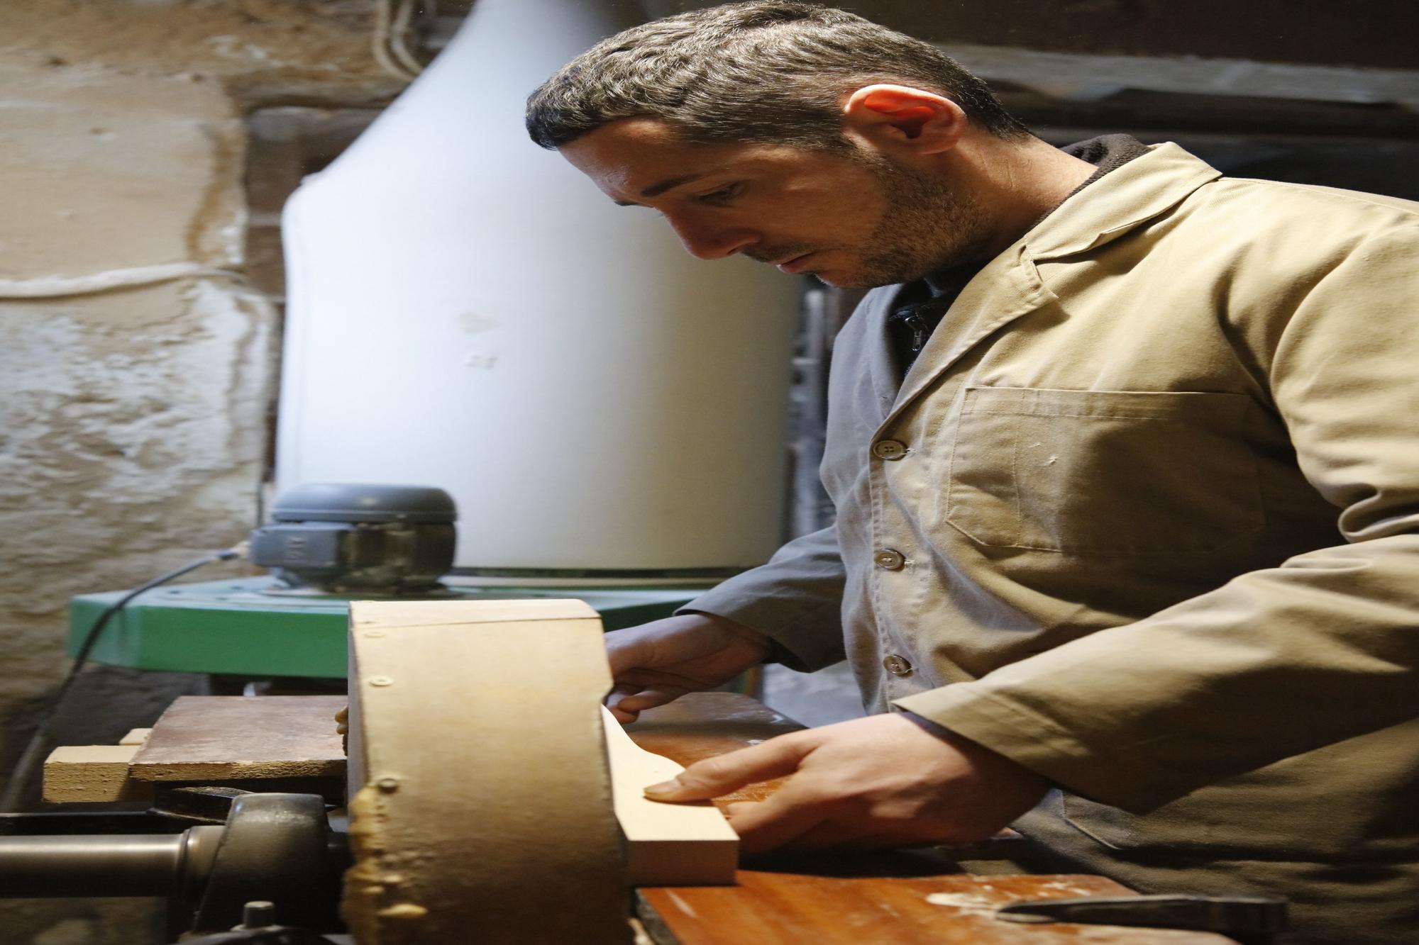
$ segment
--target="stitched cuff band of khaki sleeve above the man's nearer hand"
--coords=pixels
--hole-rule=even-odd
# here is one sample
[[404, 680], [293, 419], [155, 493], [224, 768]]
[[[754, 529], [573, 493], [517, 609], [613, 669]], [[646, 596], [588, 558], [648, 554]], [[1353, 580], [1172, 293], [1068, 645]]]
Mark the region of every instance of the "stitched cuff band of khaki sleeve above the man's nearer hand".
[[[976, 682], [956, 682], [894, 700], [962, 738], [1005, 755], [1071, 793], [1144, 814], [1176, 800], [1178, 775], [1130, 752], [1127, 761], [1105, 756], [1080, 742], [1051, 719]], [[1181, 792], [1186, 793], [1186, 792]]]

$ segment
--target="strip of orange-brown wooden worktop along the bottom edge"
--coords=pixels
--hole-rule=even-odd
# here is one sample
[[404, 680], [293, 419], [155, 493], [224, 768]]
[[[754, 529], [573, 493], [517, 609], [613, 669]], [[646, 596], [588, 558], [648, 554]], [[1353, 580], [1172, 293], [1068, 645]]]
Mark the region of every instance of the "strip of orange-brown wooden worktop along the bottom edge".
[[893, 875], [900, 860], [843, 854], [834, 871], [817, 857], [741, 870], [735, 887], [641, 890], [640, 918], [657, 945], [1232, 945], [1209, 932], [1002, 922], [1006, 902], [1128, 890], [1098, 875]]

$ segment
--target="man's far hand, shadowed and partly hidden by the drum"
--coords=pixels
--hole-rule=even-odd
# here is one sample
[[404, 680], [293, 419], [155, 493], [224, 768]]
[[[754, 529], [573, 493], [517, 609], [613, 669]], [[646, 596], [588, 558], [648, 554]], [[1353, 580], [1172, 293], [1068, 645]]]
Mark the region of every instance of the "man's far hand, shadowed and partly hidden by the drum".
[[763, 663], [769, 639], [725, 617], [687, 613], [607, 633], [606, 656], [614, 680], [606, 707], [626, 724]]

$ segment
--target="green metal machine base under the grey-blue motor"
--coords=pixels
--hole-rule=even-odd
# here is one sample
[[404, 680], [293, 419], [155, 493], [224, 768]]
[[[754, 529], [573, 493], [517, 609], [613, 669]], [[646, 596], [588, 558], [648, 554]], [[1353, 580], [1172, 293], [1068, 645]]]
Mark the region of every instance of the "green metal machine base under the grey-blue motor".
[[[438, 600], [525, 600], [576, 597], [590, 604], [607, 630], [667, 617], [712, 582], [691, 586], [492, 585], [448, 579]], [[349, 602], [291, 592], [274, 578], [211, 580], [156, 587], [115, 614], [89, 658], [109, 665], [173, 673], [245, 677], [345, 677]], [[125, 593], [79, 595], [70, 606], [68, 653], [78, 653], [89, 627]], [[402, 597], [407, 600], [413, 597]]]

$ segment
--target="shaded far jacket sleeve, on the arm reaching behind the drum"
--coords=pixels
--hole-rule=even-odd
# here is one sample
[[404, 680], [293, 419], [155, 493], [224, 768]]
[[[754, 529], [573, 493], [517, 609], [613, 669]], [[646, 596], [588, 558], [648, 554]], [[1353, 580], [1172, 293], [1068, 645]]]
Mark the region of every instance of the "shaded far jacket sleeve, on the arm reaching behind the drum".
[[843, 559], [837, 528], [790, 541], [768, 563], [735, 575], [677, 613], [711, 613], [773, 640], [772, 660], [807, 673], [844, 658]]

